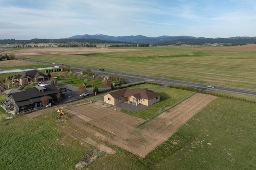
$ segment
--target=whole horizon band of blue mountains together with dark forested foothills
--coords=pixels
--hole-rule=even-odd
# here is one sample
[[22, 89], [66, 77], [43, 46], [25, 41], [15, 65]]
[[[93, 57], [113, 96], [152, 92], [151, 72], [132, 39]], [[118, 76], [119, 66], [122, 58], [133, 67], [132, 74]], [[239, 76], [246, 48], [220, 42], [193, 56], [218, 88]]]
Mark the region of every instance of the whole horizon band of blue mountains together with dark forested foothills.
[[96, 35], [75, 35], [69, 38], [62, 39], [0, 39], [0, 44], [29, 44], [29, 43], [56, 43], [56, 44], [140, 44], [143, 46], [152, 45], [205, 45], [213, 43], [222, 43], [223, 45], [245, 45], [256, 44], [256, 37], [230, 37], [230, 38], [205, 38], [192, 36], [168, 36], [146, 37], [143, 35], [136, 36], [109, 36], [103, 34]]

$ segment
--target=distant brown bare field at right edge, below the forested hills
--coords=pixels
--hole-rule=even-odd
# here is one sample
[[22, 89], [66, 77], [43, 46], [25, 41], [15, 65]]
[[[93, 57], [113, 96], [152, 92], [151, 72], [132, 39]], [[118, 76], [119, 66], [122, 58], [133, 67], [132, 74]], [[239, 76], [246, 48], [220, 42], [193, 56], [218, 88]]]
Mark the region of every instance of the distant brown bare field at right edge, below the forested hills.
[[195, 48], [196, 50], [222, 50], [222, 51], [256, 51], [256, 44], [242, 45], [242, 46], [230, 46], [230, 47], [205, 47]]

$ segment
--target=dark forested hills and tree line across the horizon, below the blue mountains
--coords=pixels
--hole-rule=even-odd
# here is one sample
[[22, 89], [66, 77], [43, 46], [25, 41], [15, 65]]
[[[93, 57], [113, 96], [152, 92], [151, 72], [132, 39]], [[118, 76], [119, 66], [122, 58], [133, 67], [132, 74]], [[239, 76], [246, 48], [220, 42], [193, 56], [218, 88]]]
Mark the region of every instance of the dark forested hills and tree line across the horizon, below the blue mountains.
[[149, 44], [155, 45], [204, 45], [205, 43], [228, 43], [228, 44], [256, 44], [256, 37], [234, 37], [234, 38], [196, 38], [196, 39], [176, 39], [176, 40], [164, 40], [159, 42], [158, 39], [147, 39], [142, 41], [121, 42], [121, 41], [106, 41], [100, 39], [31, 39], [31, 40], [16, 40], [16, 39], [0, 39], [0, 44], [29, 44], [29, 43], [48, 43], [48, 44], [119, 44], [112, 47], [136, 47], [137, 44], [140, 47], [148, 47]]

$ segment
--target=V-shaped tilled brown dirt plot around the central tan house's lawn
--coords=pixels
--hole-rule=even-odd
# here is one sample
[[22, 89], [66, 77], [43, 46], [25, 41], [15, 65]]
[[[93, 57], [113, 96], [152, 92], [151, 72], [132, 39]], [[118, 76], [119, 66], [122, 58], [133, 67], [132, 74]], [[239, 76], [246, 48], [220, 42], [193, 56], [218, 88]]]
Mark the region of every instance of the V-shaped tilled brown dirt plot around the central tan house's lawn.
[[195, 94], [145, 123], [143, 126], [146, 128], [142, 130], [136, 128], [136, 125], [143, 123], [143, 119], [126, 115], [114, 106], [94, 102], [66, 107], [65, 110], [76, 117], [70, 121], [71, 123], [82, 127], [79, 125], [78, 119], [80, 119], [99, 127], [108, 135], [99, 134], [88, 127], [82, 127], [82, 129], [113, 145], [144, 157], [162, 142], [168, 140], [186, 121], [214, 99], [216, 99], [215, 96]]

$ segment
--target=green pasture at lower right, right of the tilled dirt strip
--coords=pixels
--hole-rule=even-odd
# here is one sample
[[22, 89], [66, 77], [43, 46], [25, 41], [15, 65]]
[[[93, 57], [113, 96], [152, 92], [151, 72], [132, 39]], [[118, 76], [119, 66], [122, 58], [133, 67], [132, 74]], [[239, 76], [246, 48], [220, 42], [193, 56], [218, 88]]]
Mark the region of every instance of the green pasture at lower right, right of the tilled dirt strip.
[[256, 104], [218, 98], [142, 160], [150, 169], [255, 169]]

